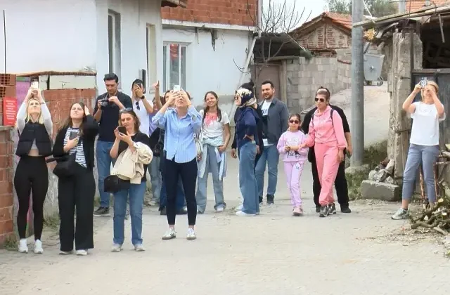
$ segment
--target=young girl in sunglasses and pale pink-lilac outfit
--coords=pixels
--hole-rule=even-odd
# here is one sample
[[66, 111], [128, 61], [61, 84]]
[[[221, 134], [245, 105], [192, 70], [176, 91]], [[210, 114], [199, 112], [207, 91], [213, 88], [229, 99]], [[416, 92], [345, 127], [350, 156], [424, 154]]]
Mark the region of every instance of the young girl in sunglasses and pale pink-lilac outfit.
[[289, 129], [278, 140], [276, 148], [283, 155], [284, 171], [288, 181], [290, 201], [294, 209], [294, 216], [302, 216], [302, 198], [300, 197], [300, 176], [302, 176], [303, 163], [307, 159], [308, 148], [300, 145], [304, 143], [306, 136], [300, 131], [300, 114], [291, 114], [289, 117]]

